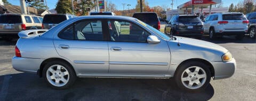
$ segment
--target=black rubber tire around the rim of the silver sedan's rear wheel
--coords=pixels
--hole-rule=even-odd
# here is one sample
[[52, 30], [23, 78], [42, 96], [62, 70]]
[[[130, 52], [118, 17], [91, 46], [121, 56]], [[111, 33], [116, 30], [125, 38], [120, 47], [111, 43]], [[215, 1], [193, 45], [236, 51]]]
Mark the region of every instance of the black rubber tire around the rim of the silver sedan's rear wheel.
[[[55, 65], [60, 65], [60, 66], [63, 66], [64, 68], [66, 68], [66, 70], [68, 71], [68, 74], [69, 74], [69, 79], [67, 80], [67, 83], [63, 86], [54, 86], [51, 84], [51, 82], [47, 79], [47, 69], [49, 69], [50, 67], [52, 66], [55, 66]], [[63, 68], [61, 68], [63, 69]], [[52, 74], [53, 75], [53, 74]], [[56, 74], [55, 74], [56, 75]], [[71, 85], [74, 84], [75, 80], [76, 80], [76, 74], [75, 74], [75, 71], [74, 69], [65, 61], [50, 61], [49, 63], [46, 63], [46, 65], [44, 66], [43, 68], [43, 78], [45, 79], [45, 81], [47, 82], [47, 84], [54, 88], [54, 89], [67, 89], [69, 88]], [[64, 77], [63, 77], [64, 78]], [[55, 79], [58, 79], [58, 78], [55, 78]], [[53, 80], [53, 79], [52, 79]], [[64, 82], [63, 82], [64, 83]]]

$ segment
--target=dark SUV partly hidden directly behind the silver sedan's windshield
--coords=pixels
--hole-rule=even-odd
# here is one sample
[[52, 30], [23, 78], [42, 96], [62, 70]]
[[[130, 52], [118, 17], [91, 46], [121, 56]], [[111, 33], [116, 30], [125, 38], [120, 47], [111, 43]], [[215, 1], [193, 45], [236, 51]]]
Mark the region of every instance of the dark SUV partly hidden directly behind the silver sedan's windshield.
[[155, 29], [157, 30], [160, 29], [160, 22], [158, 20], [157, 14], [154, 12], [134, 13], [132, 17], [137, 18], [138, 20], [141, 20], [148, 25], [155, 27]]

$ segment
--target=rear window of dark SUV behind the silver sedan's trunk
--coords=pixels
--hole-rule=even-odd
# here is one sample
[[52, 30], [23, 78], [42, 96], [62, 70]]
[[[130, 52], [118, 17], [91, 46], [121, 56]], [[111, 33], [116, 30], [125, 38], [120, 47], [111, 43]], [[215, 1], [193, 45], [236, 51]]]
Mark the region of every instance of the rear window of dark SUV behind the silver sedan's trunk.
[[66, 15], [45, 15], [43, 19], [43, 23], [58, 24], [65, 20], [67, 20]]

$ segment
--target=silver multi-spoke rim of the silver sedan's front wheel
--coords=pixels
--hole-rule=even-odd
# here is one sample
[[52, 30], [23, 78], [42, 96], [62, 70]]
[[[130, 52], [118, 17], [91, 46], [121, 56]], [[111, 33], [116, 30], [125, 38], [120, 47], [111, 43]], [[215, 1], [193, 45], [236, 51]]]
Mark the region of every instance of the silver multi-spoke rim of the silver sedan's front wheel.
[[191, 66], [182, 72], [181, 82], [186, 88], [197, 89], [205, 84], [206, 77], [206, 72], [203, 68]]

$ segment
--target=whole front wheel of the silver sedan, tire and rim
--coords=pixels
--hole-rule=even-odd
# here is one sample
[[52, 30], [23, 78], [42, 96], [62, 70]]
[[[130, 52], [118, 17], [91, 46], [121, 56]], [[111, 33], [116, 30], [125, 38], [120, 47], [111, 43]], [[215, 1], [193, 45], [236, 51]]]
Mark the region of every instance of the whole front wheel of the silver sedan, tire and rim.
[[178, 68], [174, 79], [181, 89], [201, 91], [210, 84], [211, 72], [202, 62], [187, 62]]

